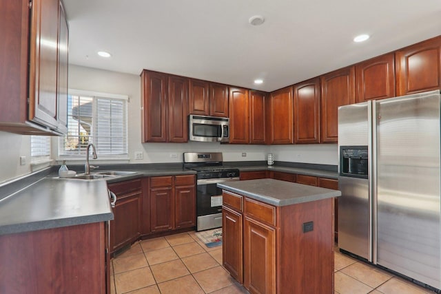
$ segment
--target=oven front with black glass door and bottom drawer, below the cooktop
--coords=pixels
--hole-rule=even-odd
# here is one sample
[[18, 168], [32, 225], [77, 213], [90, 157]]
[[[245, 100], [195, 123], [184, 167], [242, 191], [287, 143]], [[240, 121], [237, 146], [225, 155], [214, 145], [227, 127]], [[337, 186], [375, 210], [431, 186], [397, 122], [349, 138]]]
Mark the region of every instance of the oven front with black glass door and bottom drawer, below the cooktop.
[[197, 181], [196, 216], [197, 230], [222, 227], [222, 189], [218, 182], [232, 182], [239, 178], [213, 178]]

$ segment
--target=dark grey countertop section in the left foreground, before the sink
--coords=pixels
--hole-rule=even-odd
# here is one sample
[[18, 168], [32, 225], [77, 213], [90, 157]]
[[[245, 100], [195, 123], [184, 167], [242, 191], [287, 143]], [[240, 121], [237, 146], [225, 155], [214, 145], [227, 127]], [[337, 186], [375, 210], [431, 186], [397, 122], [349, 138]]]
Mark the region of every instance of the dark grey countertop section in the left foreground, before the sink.
[[104, 181], [43, 178], [0, 200], [0, 235], [113, 219]]

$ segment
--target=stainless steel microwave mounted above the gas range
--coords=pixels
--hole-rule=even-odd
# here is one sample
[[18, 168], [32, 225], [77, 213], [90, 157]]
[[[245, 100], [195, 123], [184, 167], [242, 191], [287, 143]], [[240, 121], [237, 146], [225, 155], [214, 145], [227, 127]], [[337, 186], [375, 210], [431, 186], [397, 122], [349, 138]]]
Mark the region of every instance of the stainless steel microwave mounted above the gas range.
[[229, 118], [189, 115], [189, 140], [229, 142]]

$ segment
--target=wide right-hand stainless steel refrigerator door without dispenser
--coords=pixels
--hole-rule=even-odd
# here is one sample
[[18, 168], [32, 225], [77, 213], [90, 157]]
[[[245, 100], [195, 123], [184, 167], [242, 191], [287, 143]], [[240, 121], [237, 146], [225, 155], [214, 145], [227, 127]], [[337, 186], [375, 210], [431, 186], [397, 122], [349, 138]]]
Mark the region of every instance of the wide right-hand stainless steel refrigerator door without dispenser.
[[374, 263], [440, 284], [440, 92], [376, 101]]

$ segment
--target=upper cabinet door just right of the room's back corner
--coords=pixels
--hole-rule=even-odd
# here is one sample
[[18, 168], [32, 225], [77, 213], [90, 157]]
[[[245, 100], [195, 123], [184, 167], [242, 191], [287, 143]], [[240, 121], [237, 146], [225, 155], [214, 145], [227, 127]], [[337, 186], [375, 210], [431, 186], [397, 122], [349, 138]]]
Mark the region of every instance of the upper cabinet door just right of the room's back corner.
[[272, 92], [267, 110], [268, 144], [294, 143], [292, 87]]

